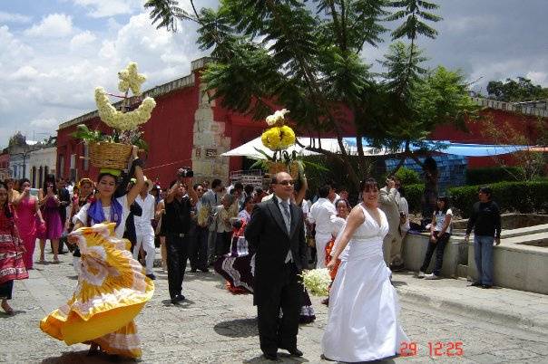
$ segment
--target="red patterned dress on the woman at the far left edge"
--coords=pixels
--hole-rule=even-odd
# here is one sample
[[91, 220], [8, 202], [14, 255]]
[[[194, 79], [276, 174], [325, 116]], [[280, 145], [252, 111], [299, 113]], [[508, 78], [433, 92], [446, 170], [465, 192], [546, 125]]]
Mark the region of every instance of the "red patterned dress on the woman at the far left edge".
[[[11, 300], [13, 281], [28, 278], [24, 269], [23, 252], [18, 246], [20, 240], [15, 236], [15, 213], [8, 206], [12, 217], [6, 217], [0, 210], [0, 298]], [[22, 244], [22, 242], [21, 242]]]

